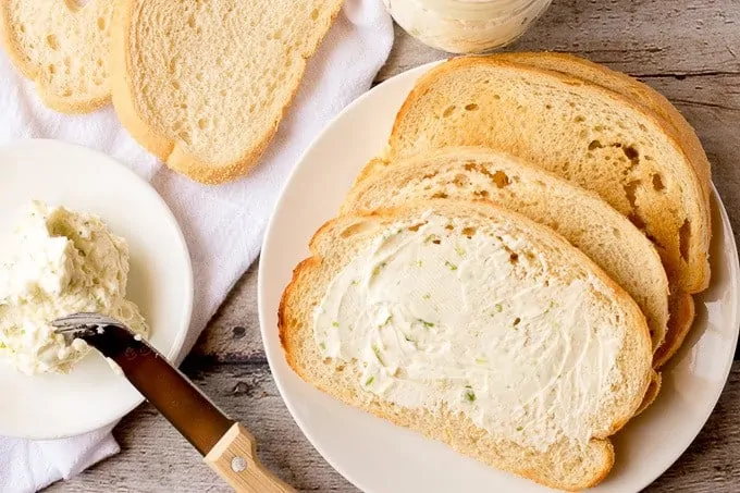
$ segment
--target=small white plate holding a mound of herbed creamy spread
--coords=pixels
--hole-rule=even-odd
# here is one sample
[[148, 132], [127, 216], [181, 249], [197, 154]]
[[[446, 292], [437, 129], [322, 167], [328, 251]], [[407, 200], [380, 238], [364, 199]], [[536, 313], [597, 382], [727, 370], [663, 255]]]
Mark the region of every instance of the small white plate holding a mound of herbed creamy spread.
[[[178, 361], [190, 322], [185, 239], [157, 192], [104, 155], [54, 140], [0, 149], [0, 435], [72, 436], [144, 399], [47, 319], [100, 311]], [[33, 214], [33, 215], [32, 215]]]

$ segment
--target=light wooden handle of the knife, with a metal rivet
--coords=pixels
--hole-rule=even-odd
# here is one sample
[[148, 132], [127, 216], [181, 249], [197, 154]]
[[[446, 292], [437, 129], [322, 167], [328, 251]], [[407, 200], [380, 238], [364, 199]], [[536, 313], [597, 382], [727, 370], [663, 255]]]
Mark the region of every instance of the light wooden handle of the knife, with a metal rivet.
[[295, 492], [262, 466], [255, 437], [239, 423], [234, 423], [211, 448], [206, 464], [238, 493]]

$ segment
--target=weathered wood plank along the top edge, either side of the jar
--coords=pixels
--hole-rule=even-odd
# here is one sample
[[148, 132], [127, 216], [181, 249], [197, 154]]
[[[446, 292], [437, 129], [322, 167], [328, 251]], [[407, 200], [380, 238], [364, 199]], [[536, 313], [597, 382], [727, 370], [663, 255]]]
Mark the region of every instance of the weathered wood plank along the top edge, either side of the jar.
[[[444, 53], [396, 26], [384, 81]], [[740, 73], [740, 2], [733, 0], [554, 0], [508, 51], [580, 53], [633, 74]]]

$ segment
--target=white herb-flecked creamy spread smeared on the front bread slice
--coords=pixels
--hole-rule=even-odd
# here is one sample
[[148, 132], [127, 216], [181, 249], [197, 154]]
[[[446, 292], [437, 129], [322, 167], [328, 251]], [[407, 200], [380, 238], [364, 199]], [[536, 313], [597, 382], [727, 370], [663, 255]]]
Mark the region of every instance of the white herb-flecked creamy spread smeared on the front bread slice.
[[621, 335], [588, 309], [601, 281], [565, 284], [515, 254], [526, 241], [465, 226], [428, 213], [357, 255], [316, 309], [321, 355], [356, 361], [370, 393], [444, 405], [522, 446], [588, 442], [621, 380]]

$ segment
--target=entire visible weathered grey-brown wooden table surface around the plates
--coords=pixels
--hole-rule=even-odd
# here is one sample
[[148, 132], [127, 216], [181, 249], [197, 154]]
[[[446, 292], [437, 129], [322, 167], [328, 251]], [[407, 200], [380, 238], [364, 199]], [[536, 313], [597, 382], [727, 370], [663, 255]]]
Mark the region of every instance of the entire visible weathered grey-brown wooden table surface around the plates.
[[[554, 0], [509, 50], [580, 53], [666, 95], [694, 125], [740, 231], [740, 1]], [[380, 83], [444, 53], [396, 28]], [[257, 270], [231, 293], [185, 372], [245, 423], [264, 464], [299, 491], [355, 492], [294, 423], [270, 375], [257, 320]], [[696, 441], [649, 492], [740, 492], [740, 362]], [[227, 492], [194, 449], [145, 404], [115, 429], [122, 453], [49, 492]]]

